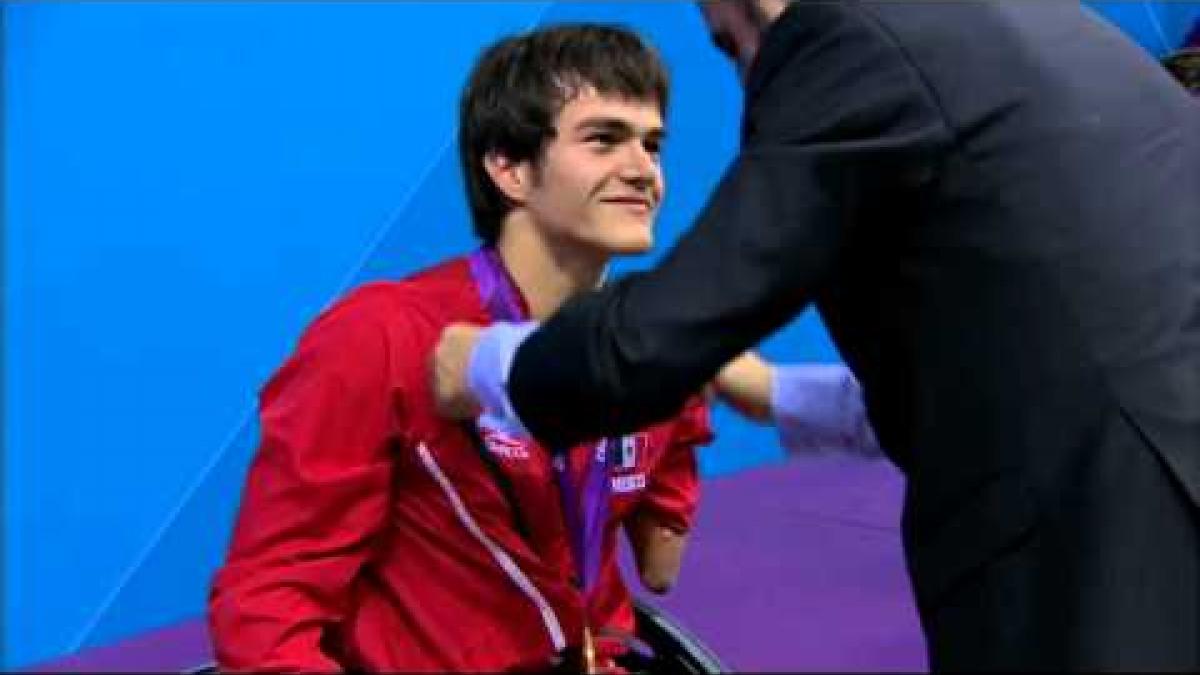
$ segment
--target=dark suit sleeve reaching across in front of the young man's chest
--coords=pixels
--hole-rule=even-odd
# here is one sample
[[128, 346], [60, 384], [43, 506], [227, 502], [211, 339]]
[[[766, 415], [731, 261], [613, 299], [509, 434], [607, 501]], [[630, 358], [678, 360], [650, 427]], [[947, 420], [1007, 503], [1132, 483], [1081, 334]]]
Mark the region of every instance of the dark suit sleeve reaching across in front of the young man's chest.
[[790, 55], [748, 103], [740, 154], [656, 268], [524, 340], [506, 386], [534, 437], [570, 447], [671, 416], [804, 309], [878, 225], [868, 207], [928, 183], [947, 126], [905, 54], [856, 16], [776, 36]]

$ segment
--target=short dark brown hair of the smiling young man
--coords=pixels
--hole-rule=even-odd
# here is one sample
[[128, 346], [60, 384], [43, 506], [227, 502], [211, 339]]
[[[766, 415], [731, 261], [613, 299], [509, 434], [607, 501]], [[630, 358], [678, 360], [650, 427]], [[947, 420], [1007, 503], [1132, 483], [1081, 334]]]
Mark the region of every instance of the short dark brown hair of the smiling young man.
[[582, 89], [658, 104], [666, 117], [667, 72], [631, 30], [563, 24], [500, 40], [475, 62], [458, 108], [458, 157], [475, 234], [494, 244], [512, 204], [484, 169], [498, 153], [536, 161], [563, 106]]

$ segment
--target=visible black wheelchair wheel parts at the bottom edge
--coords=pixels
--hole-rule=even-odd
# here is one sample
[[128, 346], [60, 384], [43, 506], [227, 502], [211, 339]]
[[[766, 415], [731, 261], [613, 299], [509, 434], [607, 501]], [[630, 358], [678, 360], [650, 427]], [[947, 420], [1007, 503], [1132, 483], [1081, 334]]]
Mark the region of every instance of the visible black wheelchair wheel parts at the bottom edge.
[[[688, 632], [671, 615], [634, 598], [634, 616], [637, 621], [637, 639], [647, 651], [634, 650], [620, 659], [622, 665], [634, 674], [679, 673], [684, 675], [713, 675], [730, 673], [713, 650]], [[206, 663], [184, 675], [216, 675], [216, 665]]]

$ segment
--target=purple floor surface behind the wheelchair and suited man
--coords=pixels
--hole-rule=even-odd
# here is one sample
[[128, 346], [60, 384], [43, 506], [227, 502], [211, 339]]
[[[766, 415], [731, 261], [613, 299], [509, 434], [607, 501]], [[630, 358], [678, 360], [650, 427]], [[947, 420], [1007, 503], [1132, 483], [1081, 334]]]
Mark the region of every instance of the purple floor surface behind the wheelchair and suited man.
[[[676, 590], [654, 603], [733, 670], [925, 670], [890, 465], [806, 459], [704, 483]], [[34, 667], [181, 671], [210, 658], [199, 620]]]

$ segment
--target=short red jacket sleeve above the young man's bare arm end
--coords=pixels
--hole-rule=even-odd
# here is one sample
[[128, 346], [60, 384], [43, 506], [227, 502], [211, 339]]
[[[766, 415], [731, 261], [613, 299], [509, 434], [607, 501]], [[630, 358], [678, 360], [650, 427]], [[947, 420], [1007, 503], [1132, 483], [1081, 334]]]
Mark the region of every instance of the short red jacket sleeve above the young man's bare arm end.
[[691, 530], [700, 501], [696, 448], [712, 440], [708, 406], [697, 398], [684, 407], [672, 426], [670, 444], [647, 477], [637, 510], [653, 514], [659, 522], [678, 532]]

